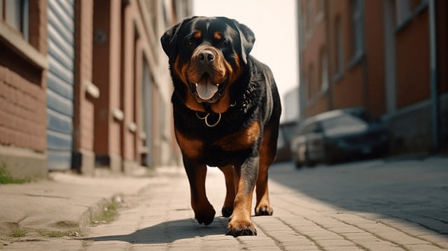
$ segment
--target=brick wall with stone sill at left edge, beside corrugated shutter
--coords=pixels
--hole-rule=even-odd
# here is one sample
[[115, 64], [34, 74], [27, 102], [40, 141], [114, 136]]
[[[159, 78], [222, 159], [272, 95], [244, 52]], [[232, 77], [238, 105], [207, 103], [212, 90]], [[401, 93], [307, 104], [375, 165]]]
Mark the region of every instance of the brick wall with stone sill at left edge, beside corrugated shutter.
[[46, 162], [47, 2], [29, 2], [29, 41], [0, 22], [0, 165], [42, 177]]

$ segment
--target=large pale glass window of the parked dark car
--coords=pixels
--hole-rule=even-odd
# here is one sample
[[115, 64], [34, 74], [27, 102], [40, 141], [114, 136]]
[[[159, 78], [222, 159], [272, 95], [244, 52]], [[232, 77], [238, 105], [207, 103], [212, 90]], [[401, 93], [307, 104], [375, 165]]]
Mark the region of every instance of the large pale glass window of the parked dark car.
[[352, 115], [341, 115], [323, 120], [322, 126], [325, 134], [333, 136], [336, 134], [356, 134], [367, 130], [367, 123], [359, 117]]

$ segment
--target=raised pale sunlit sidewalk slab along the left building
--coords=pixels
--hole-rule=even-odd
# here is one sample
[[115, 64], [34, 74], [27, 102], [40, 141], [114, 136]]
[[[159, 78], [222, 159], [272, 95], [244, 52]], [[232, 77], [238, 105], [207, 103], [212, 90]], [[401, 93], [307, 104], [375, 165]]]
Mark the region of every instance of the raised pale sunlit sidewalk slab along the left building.
[[12, 229], [87, 232], [92, 215], [115, 197], [137, 194], [150, 178], [90, 178], [50, 173], [49, 180], [0, 185], [0, 234]]

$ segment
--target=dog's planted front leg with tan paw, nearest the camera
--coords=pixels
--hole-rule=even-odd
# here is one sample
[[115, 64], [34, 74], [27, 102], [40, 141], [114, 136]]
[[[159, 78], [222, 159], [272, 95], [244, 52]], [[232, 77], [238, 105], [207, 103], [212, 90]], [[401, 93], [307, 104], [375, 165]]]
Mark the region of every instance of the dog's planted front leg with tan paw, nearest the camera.
[[232, 236], [254, 236], [257, 230], [251, 221], [252, 196], [258, 176], [260, 158], [249, 157], [241, 166], [235, 166], [235, 204], [225, 234]]

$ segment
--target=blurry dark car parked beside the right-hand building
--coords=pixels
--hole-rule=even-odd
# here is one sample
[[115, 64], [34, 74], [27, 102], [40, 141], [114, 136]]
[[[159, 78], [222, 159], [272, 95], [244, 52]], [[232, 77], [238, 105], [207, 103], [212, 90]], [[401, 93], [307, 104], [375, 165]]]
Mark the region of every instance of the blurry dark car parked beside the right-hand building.
[[332, 110], [301, 123], [291, 141], [293, 160], [302, 165], [332, 164], [388, 151], [391, 132], [363, 108]]

